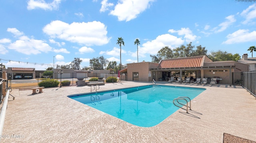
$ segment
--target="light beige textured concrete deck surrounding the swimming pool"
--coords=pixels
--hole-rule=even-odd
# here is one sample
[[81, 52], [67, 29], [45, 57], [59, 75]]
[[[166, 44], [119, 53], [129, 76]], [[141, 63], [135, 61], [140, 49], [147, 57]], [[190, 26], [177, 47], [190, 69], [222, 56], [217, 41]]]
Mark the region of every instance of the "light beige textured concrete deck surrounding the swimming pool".
[[[142, 86], [151, 82], [107, 83], [98, 91]], [[206, 88], [192, 100], [192, 111], [166, 118], [154, 127], [138, 127], [77, 102], [68, 95], [90, 92], [90, 86], [14, 89], [9, 98], [3, 143], [222, 143], [223, 133], [256, 141], [256, 99], [241, 86], [157, 84]], [[182, 96], [182, 95], [181, 95]], [[108, 128], [116, 125], [116, 128]]]

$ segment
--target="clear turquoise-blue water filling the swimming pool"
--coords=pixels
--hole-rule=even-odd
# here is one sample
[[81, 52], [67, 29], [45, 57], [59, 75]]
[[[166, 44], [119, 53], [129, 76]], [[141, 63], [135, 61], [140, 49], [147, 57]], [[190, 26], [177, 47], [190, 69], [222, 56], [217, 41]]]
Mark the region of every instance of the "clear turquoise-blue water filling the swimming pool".
[[192, 100], [204, 90], [150, 85], [69, 97], [134, 125], [152, 127], [179, 109], [172, 103], [174, 98]]

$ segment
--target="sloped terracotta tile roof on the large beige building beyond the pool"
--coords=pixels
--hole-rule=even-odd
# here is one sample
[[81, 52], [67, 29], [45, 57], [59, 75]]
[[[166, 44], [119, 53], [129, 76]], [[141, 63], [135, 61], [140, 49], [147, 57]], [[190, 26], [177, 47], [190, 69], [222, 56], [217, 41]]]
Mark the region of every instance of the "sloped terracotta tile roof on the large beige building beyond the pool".
[[174, 59], [164, 59], [158, 68], [181, 68], [181, 67], [201, 67], [204, 56], [182, 57]]

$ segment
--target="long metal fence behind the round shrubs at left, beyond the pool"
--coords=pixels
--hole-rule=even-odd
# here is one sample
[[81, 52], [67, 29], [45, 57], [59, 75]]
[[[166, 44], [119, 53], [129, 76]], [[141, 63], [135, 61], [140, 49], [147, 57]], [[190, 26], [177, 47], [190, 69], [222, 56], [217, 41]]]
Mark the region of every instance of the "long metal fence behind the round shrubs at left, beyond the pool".
[[84, 78], [84, 80], [89, 80], [91, 77], [104, 77], [105, 79], [109, 76], [117, 77], [118, 74], [102, 74], [102, 73], [88, 73], [88, 74], [79, 74], [79, 73], [54, 73], [54, 76], [40, 76], [40, 74], [35, 73], [26, 74], [20, 73], [19, 75], [15, 73], [8, 73], [8, 87], [10, 88], [33, 88], [38, 87], [39, 83], [45, 78], [52, 79], [54, 77], [55, 80], [69, 80], [70, 85], [76, 84], [77, 78]]

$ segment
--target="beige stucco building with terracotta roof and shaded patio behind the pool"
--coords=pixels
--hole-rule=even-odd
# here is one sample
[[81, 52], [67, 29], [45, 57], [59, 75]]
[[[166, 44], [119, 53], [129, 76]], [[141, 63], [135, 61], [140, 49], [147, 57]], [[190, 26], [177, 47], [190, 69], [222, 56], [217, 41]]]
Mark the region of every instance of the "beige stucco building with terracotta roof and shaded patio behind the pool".
[[219, 78], [220, 84], [233, 84], [234, 72], [248, 71], [249, 66], [236, 61], [213, 62], [206, 56], [180, 57], [164, 59], [159, 63], [140, 62], [127, 64], [121, 70], [128, 81], [149, 82], [168, 80], [171, 76], [191, 79]]

